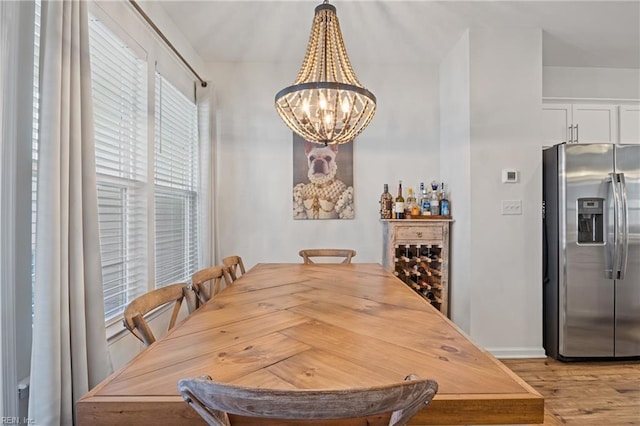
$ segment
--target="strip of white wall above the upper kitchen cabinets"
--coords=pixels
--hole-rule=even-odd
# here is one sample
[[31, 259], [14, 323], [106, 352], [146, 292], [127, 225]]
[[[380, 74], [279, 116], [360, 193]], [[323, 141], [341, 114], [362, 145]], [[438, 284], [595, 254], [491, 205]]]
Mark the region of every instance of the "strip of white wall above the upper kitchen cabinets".
[[542, 95], [560, 98], [640, 99], [637, 68], [543, 68]]

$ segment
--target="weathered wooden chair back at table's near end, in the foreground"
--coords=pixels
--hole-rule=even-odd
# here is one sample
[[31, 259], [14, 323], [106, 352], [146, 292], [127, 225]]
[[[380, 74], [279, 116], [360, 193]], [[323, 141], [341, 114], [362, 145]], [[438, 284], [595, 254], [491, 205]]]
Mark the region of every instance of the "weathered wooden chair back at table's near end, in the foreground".
[[180, 380], [178, 390], [185, 402], [214, 426], [230, 426], [228, 414], [258, 419], [328, 420], [389, 412], [389, 425], [399, 426], [431, 402], [438, 384], [411, 374], [403, 382], [370, 388], [267, 389], [220, 383], [203, 376]]

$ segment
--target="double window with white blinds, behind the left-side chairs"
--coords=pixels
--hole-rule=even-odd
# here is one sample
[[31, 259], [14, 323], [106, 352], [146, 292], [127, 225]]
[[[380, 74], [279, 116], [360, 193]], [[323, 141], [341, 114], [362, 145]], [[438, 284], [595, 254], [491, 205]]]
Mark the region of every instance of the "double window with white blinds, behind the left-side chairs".
[[[89, 31], [105, 320], [110, 322], [133, 298], [186, 281], [197, 269], [197, 108], [160, 73], [147, 81], [146, 59], [104, 22], [91, 16]], [[149, 101], [155, 110], [152, 138]]]

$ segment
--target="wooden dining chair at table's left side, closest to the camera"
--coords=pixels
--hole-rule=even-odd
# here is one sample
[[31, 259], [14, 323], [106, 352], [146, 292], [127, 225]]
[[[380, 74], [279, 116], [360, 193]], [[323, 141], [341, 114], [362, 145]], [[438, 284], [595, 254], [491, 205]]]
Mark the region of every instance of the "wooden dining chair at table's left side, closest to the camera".
[[160, 287], [148, 293], [133, 299], [124, 310], [124, 318], [122, 323], [125, 328], [138, 338], [145, 346], [149, 346], [156, 341], [149, 324], [144, 316], [150, 311], [173, 303], [171, 318], [167, 331], [171, 330], [176, 324], [182, 301], [189, 289], [186, 283], [170, 284], [166, 287]]

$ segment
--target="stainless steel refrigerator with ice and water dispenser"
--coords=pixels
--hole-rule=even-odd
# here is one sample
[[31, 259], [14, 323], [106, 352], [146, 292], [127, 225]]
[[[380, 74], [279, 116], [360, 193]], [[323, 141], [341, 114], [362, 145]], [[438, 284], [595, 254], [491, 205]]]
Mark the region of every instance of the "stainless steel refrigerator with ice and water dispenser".
[[640, 145], [544, 149], [543, 199], [547, 355], [640, 357]]

